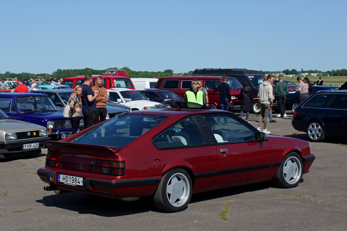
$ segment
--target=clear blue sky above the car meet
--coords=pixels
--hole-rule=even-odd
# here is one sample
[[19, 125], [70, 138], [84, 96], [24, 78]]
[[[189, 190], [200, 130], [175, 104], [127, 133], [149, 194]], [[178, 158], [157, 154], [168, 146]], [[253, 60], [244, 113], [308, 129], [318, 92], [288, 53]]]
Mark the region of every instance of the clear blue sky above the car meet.
[[347, 68], [343, 0], [0, 0], [0, 9], [0, 73]]

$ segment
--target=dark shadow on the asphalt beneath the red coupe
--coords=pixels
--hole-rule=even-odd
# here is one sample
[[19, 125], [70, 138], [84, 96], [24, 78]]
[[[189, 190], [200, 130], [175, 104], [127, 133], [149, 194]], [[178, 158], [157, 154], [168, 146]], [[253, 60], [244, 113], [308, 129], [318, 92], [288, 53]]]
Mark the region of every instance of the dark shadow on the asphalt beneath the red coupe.
[[[190, 204], [258, 191], [269, 187], [274, 187], [274, 185], [271, 182], [262, 182], [197, 193], [192, 195]], [[36, 200], [36, 202], [46, 207], [57, 207], [75, 211], [79, 214], [93, 214], [104, 217], [126, 216], [149, 211], [167, 213], [156, 208], [151, 197], [142, 197], [138, 201], [125, 202], [105, 197], [89, 197], [81, 193], [62, 193], [44, 196], [42, 199]]]

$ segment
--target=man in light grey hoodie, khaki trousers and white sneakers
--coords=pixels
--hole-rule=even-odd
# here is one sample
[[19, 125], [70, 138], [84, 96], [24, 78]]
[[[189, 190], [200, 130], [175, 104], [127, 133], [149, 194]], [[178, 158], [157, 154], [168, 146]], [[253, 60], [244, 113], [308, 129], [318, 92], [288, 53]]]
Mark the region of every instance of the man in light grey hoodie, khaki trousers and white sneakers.
[[266, 78], [266, 81], [264, 81], [260, 86], [259, 86], [259, 103], [261, 106], [261, 117], [259, 118], [259, 123], [258, 123], [258, 130], [261, 131], [261, 124], [264, 118], [264, 127], [263, 127], [263, 132], [266, 134], [270, 134], [268, 130], [266, 130], [266, 125], [268, 124], [268, 118], [270, 114], [270, 110], [272, 107], [272, 101], [273, 101], [273, 95], [272, 95], [272, 85], [271, 83], [273, 82], [274, 76], [269, 74], [268, 77]]

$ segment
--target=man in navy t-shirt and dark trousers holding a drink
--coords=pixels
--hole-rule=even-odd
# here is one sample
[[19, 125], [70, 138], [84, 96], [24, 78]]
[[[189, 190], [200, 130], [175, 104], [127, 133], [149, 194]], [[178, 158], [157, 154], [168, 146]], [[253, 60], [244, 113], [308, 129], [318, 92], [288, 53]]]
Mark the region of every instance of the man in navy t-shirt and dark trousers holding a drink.
[[84, 77], [84, 84], [82, 84], [82, 112], [84, 116], [84, 128], [88, 128], [94, 125], [96, 100], [98, 93], [94, 93], [90, 87], [93, 82], [92, 75], [86, 74]]

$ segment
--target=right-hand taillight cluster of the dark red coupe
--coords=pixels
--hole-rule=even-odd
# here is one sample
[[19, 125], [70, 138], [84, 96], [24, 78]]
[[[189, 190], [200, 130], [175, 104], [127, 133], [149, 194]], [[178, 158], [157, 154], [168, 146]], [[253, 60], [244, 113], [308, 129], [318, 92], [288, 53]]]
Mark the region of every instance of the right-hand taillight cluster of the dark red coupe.
[[125, 175], [125, 161], [95, 161], [95, 173], [107, 174], [113, 176]]

